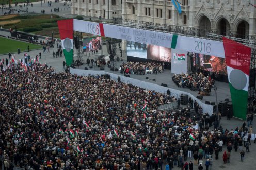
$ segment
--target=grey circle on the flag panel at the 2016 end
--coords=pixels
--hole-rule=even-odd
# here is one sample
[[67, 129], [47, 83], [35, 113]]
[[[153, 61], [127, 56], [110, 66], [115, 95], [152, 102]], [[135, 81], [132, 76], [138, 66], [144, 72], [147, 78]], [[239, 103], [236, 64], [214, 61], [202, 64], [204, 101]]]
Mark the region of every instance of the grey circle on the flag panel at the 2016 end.
[[230, 72], [229, 81], [235, 89], [242, 90], [247, 84], [247, 77], [241, 70], [234, 69]]

